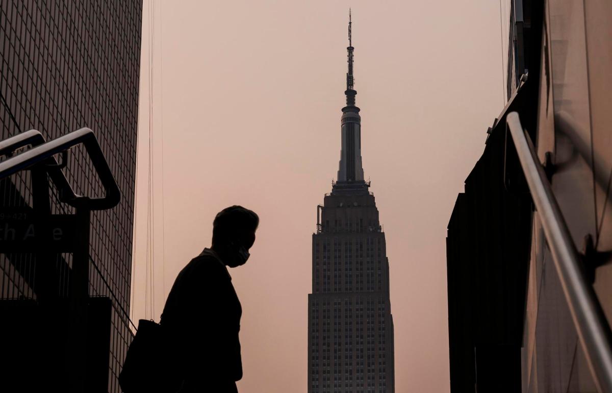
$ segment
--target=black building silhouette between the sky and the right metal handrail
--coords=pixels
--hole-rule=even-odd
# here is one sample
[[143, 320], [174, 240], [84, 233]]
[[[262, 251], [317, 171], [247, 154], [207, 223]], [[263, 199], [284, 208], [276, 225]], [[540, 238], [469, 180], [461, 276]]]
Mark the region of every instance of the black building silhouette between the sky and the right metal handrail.
[[[510, 20], [504, 21], [510, 25], [507, 105], [487, 131], [482, 157], [466, 178], [465, 192], [458, 195], [448, 225], [452, 393], [521, 391], [532, 207], [529, 193], [517, 187], [524, 185], [524, 179], [515, 155], [508, 154], [506, 114], [518, 111], [523, 127], [533, 137], [542, 8], [529, 0], [511, 3]], [[526, 4], [520, 15], [515, 7], [518, 3], [520, 9]]]

